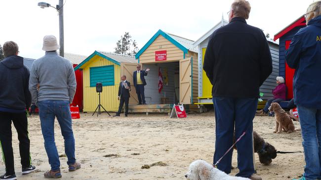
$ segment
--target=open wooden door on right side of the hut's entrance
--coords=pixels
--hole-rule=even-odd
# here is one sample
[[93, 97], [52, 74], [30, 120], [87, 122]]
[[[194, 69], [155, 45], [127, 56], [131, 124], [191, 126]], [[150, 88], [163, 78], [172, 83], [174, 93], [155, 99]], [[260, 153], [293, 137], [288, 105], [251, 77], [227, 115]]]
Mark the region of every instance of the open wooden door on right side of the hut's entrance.
[[179, 102], [191, 104], [192, 99], [192, 58], [179, 61]]

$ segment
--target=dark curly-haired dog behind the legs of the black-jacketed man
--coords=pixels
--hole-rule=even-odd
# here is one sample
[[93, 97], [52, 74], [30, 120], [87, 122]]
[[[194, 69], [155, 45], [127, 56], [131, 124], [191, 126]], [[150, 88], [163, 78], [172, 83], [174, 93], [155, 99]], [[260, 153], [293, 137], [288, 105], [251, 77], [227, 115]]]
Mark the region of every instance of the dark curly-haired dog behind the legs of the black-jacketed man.
[[[256, 131], [253, 131], [254, 152], [258, 153], [260, 162], [264, 165], [269, 165], [272, 159], [277, 157], [277, 150], [270, 143], [265, 142], [263, 138]], [[235, 143], [235, 132], [233, 136], [233, 143]], [[236, 146], [233, 147], [237, 150]]]

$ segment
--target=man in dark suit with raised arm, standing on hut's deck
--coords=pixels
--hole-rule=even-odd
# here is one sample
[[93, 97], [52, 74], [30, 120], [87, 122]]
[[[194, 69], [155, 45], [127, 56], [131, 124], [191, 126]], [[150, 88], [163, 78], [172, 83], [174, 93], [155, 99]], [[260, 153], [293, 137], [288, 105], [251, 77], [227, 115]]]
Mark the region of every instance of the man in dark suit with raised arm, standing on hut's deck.
[[138, 104], [142, 104], [142, 102], [143, 104], [146, 104], [144, 86], [146, 86], [145, 76], [147, 76], [147, 72], [149, 70], [149, 68], [147, 68], [146, 70], [140, 70], [140, 64], [137, 64], [137, 71], [134, 71], [133, 74], [134, 86], [138, 96]]

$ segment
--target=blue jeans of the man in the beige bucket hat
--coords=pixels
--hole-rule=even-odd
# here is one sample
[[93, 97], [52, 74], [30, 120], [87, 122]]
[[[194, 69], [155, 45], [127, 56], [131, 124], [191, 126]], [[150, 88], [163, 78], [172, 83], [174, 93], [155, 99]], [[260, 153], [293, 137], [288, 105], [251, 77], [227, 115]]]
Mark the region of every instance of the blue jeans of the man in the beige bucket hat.
[[72, 129], [69, 101], [45, 100], [38, 102], [38, 107], [44, 148], [47, 152], [51, 170], [60, 170], [59, 155], [54, 137], [55, 117], [58, 120], [61, 134], [65, 140], [65, 153], [68, 158], [67, 164], [70, 165], [75, 163], [75, 139]]

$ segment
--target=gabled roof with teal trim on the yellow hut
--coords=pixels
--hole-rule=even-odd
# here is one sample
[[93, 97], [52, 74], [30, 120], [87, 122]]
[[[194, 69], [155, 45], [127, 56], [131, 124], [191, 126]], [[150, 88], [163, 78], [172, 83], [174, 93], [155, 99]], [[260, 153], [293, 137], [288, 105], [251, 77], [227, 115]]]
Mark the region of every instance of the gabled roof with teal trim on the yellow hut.
[[137, 63], [137, 60], [135, 60], [135, 58], [133, 56], [120, 55], [120, 54], [116, 54], [116, 53], [106, 53], [106, 52], [103, 52], [103, 51], [95, 51], [88, 58], [83, 60], [78, 66], [76, 66], [74, 68], [74, 70], [76, 71], [77, 69], [81, 69], [81, 67], [85, 63], [90, 61], [96, 55], [100, 56], [102, 58], [105, 58], [106, 60], [109, 60], [109, 61], [111, 61], [111, 62], [113, 62], [113, 63], [115, 63], [117, 65], [120, 65], [121, 62]]

